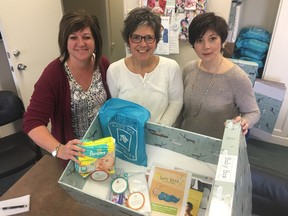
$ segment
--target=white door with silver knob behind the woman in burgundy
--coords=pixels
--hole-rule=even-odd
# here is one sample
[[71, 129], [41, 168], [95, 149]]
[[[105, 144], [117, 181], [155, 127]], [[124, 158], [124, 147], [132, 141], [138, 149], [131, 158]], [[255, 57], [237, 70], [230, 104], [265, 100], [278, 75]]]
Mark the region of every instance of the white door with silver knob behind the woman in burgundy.
[[[61, 0], [0, 0], [0, 31], [25, 107], [43, 69], [59, 56], [57, 37], [62, 14]], [[17, 68], [20, 64], [23, 70]]]

